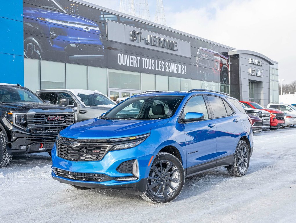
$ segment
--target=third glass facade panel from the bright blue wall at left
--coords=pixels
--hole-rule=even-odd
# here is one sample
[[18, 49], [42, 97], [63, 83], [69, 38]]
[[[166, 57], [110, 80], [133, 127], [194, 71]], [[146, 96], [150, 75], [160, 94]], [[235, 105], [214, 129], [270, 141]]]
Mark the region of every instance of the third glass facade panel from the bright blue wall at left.
[[87, 89], [87, 66], [66, 64], [66, 87]]

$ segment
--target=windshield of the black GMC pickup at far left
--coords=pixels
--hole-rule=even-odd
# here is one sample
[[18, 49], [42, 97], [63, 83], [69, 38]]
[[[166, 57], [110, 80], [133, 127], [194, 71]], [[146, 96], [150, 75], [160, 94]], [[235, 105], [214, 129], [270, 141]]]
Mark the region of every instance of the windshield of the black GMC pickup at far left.
[[0, 86], [0, 103], [38, 102], [44, 103], [32, 92], [14, 86]]

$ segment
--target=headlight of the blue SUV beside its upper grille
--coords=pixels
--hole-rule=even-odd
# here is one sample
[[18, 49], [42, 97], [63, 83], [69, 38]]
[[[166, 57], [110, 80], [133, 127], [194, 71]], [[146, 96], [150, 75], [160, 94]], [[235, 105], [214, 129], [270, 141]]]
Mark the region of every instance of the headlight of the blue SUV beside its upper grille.
[[150, 133], [144, 134], [144, 135], [139, 135], [139, 136], [110, 139], [111, 142], [128, 141], [125, 143], [120, 143], [120, 144], [114, 145], [111, 150], [124, 150], [124, 149], [129, 149], [129, 148], [135, 147], [135, 146], [139, 145], [140, 143], [144, 142], [144, 140], [147, 139], [149, 137], [149, 135], [150, 135]]

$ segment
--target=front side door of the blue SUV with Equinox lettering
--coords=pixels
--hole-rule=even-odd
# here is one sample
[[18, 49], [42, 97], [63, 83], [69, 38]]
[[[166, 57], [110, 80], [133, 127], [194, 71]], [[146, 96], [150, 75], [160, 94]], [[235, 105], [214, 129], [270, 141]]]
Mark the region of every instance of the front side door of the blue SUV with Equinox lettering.
[[203, 163], [210, 165], [205, 169], [215, 167], [217, 132], [214, 120], [209, 119], [208, 108], [202, 95], [189, 99], [182, 116], [185, 117], [188, 112], [199, 112], [205, 115], [202, 121], [181, 124], [185, 133], [187, 175], [190, 175], [196, 172], [194, 166]]

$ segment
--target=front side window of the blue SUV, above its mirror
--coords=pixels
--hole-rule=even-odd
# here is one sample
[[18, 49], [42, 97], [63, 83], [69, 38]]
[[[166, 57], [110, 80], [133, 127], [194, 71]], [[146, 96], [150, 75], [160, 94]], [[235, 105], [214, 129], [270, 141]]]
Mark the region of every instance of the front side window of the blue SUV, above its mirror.
[[184, 108], [184, 117], [188, 112], [199, 112], [205, 115], [204, 119], [208, 119], [209, 115], [207, 112], [207, 106], [205, 105], [205, 100], [202, 95], [194, 96], [189, 99]]

